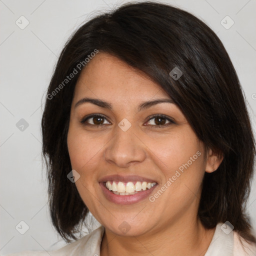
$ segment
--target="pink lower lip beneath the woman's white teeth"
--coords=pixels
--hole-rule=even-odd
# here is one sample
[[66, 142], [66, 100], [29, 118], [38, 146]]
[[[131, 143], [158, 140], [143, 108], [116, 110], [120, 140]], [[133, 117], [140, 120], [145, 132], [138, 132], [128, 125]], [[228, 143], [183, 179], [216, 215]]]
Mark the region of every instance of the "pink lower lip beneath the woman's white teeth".
[[146, 189], [146, 190], [142, 190], [138, 193], [135, 194], [127, 194], [127, 195], [119, 195], [119, 194], [114, 194], [111, 191], [109, 191], [105, 186], [103, 182], [99, 182], [99, 185], [102, 188], [102, 191], [105, 195], [105, 197], [114, 203], [117, 204], [132, 204], [132, 203], [136, 203], [138, 201], [141, 201], [143, 199], [145, 199], [146, 197], [149, 196], [150, 193], [153, 192], [154, 188], [157, 186], [154, 185], [153, 187]]

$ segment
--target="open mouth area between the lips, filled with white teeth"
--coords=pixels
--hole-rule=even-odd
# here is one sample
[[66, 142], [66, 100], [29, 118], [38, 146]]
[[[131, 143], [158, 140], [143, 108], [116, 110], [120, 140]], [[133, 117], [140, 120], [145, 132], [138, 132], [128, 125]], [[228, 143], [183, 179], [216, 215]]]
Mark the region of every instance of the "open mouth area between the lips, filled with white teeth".
[[117, 195], [130, 195], [139, 193], [141, 191], [145, 191], [155, 186], [156, 182], [146, 182], [146, 181], [116, 181], [116, 180], [108, 180], [104, 181], [104, 186], [109, 191]]

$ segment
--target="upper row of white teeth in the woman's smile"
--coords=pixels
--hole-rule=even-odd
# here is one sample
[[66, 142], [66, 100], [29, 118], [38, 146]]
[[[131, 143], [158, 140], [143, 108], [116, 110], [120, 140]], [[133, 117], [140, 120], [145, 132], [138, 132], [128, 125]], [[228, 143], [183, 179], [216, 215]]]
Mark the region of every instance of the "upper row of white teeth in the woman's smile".
[[113, 192], [118, 192], [118, 193], [122, 193], [122, 192], [128, 192], [128, 193], [132, 193], [134, 191], [140, 191], [141, 189], [146, 190], [146, 188], [151, 188], [152, 186], [154, 186], [156, 184], [156, 182], [140, 182], [140, 181], [136, 181], [135, 184], [133, 184], [132, 181], [129, 181], [126, 183], [126, 185], [121, 182], [121, 181], [106, 181], [106, 187], [108, 188], [108, 190], [112, 190]]

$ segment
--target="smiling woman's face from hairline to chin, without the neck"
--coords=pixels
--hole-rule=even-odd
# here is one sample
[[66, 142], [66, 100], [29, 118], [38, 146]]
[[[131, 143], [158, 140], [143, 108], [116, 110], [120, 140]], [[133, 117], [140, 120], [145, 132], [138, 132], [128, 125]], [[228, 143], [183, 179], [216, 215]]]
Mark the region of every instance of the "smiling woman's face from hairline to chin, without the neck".
[[[115, 234], [140, 235], [194, 220], [203, 174], [211, 168], [180, 109], [171, 102], [145, 103], [155, 100], [170, 97], [102, 52], [86, 65], [75, 87], [67, 135], [71, 166], [80, 175], [75, 185], [90, 212]], [[97, 114], [103, 117], [93, 117]], [[118, 195], [106, 181], [113, 190], [151, 188]]]

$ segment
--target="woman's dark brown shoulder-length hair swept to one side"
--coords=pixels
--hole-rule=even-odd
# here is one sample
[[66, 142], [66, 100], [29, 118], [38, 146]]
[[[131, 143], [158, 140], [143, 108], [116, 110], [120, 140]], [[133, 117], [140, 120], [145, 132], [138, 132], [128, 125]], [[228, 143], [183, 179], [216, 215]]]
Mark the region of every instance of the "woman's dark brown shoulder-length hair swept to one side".
[[[155, 2], [128, 3], [87, 21], [72, 34], [56, 63], [41, 127], [50, 215], [57, 232], [68, 242], [68, 237], [76, 240], [88, 213], [67, 178], [71, 164], [66, 139], [82, 69], [78, 66], [86, 68], [85, 58], [95, 49], [117, 56], [159, 84], [205, 147], [223, 156], [218, 169], [204, 175], [198, 217], [206, 228], [227, 220], [243, 238], [255, 242], [245, 212], [255, 142], [237, 74], [223, 44], [204, 22]], [[183, 73], [177, 80], [169, 75], [174, 67]], [[77, 74], [65, 80], [74, 69]]]

